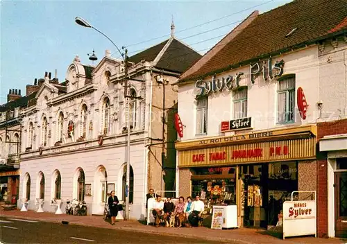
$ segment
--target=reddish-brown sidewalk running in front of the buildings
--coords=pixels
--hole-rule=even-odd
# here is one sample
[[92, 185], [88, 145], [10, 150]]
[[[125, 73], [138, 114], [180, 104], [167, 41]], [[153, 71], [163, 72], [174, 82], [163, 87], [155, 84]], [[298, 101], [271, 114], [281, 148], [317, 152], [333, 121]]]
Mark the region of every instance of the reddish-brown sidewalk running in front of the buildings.
[[[325, 238], [288, 238], [285, 241], [273, 236], [269, 236], [262, 229], [209, 229], [206, 227], [196, 228], [155, 228], [153, 226], [143, 225], [135, 220], [119, 220], [116, 225], [110, 225], [105, 222], [102, 216], [68, 216], [65, 214], [56, 215], [52, 213], [36, 213], [35, 211], [21, 212], [19, 210], [0, 211], [0, 216], [5, 218], [22, 218], [30, 220], [40, 220], [45, 222], [61, 223], [62, 220], [68, 221], [69, 225], [85, 225], [92, 227], [101, 227], [108, 229], [121, 229], [130, 232], [146, 232], [160, 235], [185, 236], [189, 238], [204, 238], [211, 241], [225, 241], [237, 243], [345, 243], [339, 239]], [[346, 241], [347, 242], [347, 241]]]

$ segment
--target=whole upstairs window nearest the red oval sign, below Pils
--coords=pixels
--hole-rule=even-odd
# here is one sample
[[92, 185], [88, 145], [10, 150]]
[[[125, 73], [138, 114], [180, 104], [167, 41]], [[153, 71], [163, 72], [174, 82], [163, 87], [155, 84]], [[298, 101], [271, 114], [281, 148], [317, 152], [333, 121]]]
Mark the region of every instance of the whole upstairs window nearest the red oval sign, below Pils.
[[294, 122], [295, 76], [278, 81], [278, 123]]

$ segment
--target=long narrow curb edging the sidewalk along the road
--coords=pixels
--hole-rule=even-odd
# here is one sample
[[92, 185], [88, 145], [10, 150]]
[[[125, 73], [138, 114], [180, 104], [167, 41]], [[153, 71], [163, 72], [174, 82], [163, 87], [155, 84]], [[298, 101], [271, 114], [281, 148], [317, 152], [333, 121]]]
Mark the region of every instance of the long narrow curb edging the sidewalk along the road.
[[[41, 221], [41, 222], [47, 222], [47, 223], [56, 223], [56, 224], [62, 224], [62, 220], [51, 220], [51, 219], [42, 219], [42, 218], [33, 218], [33, 217], [27, 217], [27, 216], [13, 216], [13, 215], [3, 215], [0, 214], [0, 217], [2, 218], [22, 218], [26, 220], [36, 220], [36, 221]], [[124, 231], [129, 231], [129, 232], [137, 232], [137, 233], [147, 233], [147, 234], [157, 234], [159, 236], [177, 236], [177, 233], [169, 233], [169, 232], [158, 232], [155, 231], [154, 229], [139, 229], [139, 228], [134, 228], [134, 227], [117, 227], [117, 226], [94, 226], [94, 225], [88, 225], [85, 223], [81, 223], [78, 221], [69, 221], [69, 225], [81, 225], [85, 227], [95, 227], [95, 228], [103, 228], [103, 229], [119, 229], [119, 230], [124, 230]], [[131, 220], [129, 222], [132, 222]], [[117, 224], [116, 224], [117, 225]], [[185, 237], [185, 238], [203, 238], [206, 241], [220, 241], [221, 243], [244, 243], [244, 244], [253, 244], [253, 242], [248, 242], [244, 241], [241, 239], [233, 239], [233, 238], [218, 238], [218, 237], [209, 237], [209, 236], [199, 236], [196, 234], [186, 234], [186, 233], [180, 233], [180, 237]]]

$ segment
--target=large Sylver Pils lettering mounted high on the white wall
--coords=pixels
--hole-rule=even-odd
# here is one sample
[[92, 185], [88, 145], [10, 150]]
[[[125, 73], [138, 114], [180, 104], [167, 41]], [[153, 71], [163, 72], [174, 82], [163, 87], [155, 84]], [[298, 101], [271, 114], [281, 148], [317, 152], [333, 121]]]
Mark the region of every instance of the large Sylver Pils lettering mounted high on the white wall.
[[[273, 77], [282, 76], [283, 65], [285, 64], [284, 60], [277, 61], [275, 64], [272, 64], [271, 58], [266, 61], [263, 61], [262, 64], [257, 62], [250, 65], [250, 75], [251, 82], [254, 84], [255, 77], [259, 74], [263, 74], [264, 80], [272, 79]], [[275, 72], [273, 73], [273, 71]], [[204, 96], [210, 94], [210, 92], [222, 92], [223, 89], [234, 89], [239, 87], [239, 81], [243, 72], [236, 73], [235, 76], [228, 76], [226, 78], [217, 79], [216, 75], [212, 76], [212, 80], [197, 80], [195, 82], [195, 87], [198, 89], [197, 96]]]

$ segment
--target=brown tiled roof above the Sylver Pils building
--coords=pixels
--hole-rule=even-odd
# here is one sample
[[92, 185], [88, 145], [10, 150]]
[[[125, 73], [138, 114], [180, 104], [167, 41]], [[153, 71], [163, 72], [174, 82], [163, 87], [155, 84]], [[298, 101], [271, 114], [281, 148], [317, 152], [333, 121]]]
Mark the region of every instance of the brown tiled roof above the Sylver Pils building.
[[242, 62], [347, 30], [346, 17], [347, 0], [292, 1], [258, 15], [200, 69], [180, 81], [226, 71]]

